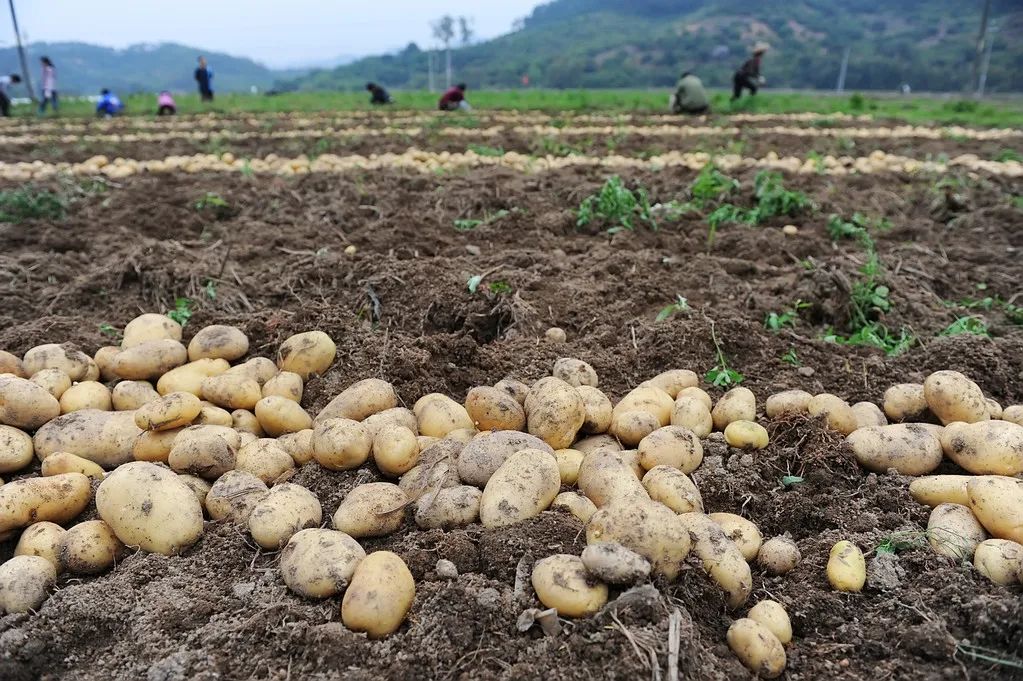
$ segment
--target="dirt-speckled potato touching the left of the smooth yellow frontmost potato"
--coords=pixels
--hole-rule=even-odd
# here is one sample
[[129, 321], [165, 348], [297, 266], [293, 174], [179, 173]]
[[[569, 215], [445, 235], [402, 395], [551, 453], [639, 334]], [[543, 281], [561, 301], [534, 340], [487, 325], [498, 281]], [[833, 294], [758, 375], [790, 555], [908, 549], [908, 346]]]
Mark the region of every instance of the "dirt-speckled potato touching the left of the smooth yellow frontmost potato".
[[280, 574], [300, 596], [327, 598], [348, 587], [365, 557], [359, 543], [345, 533], [310, 528], [287, 540], [280, 552]]

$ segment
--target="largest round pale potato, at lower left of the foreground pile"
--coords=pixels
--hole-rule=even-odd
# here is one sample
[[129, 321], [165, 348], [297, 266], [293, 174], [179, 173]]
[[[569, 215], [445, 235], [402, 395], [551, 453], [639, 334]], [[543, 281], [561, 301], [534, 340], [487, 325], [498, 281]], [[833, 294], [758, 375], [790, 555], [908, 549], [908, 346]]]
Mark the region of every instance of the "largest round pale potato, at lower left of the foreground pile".
[[173, 471], [146, 461], [108, 474], [96, 490], [96, 511], [126, 546], [152, 553], [181, 553], [203, 535], [203, 506], [192, 491]]

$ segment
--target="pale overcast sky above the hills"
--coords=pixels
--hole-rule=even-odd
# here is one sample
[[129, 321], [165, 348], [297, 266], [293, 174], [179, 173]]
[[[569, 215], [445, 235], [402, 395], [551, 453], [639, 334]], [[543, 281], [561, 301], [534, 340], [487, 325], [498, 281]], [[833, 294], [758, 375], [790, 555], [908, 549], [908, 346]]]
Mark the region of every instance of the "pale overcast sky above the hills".
[[[6, 4], [6, 3], [4, 3]], [[21, 35], [125, 47], [176, 42], [272, 66], [375, 54], [431, 40], [445, 13], [475, 19], [477, 37], [506, 33], [541, 0], [20, 0]], [[13, 44], [7, 8], [0, 43]]]

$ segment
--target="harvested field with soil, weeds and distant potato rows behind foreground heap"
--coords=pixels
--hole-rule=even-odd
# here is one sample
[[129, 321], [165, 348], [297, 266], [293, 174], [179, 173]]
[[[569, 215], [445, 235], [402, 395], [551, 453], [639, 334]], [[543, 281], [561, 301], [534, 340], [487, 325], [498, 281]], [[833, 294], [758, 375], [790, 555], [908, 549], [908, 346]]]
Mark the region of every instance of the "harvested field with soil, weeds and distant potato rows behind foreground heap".
[[[936, 554], [910, 478], [868, 472], [821, 419], [769, 419], [763, 401], [802, 389], [880, 405], [894, 383], [954, 369], [1023, 404], [1023, 133], [966, 125], [1020, 114], [927, 104], [908, 125], [886, 103], [821, 106], [4, 122], [0, 349], [91, 355], [138, 314], [171, 310], [190, 313], [186, 337], [232, 324], [268, 357], [320, 329], [338, 356], [306, 384], [311, 414], [362, 378], [391, 381], [409, 407], [428, 393], [460, 402], [560, 357], [591, 364], [613, 401], [672, 368], [707, 376], [714, 398], [741, 383], [770, 444], [712, 435], [693, 480], [708, 511], [799, 546], [785, 576], [753, 565], [750, 603], [773, 598], [792, 619], [784, 678], [1019, 678], [1021, 586]], [[312, 462], [291, 482], [326, 518], [376, 480], [371, 465]], [[861, 593], [826, 579], [841, 539], [866, 554]], [[207, 523], [181, 556], [61, 577], [38, 611], [0, 618], [0, 678], [754, 678], [725, 641], [741, 616], [695, 559], [672, 583], [613, 590], [555, 636], [520, 632], [538, 605], [520, 564], [585, 546], [568, 513], [502, 530], [406, 517], [362, 543], [415, 579], [407, 622], [384, 640], [348, 631], [339, 598], [288, 591], [279, 554], [243, 529]], [[0, 544], [0, 561], [13, 549]]]

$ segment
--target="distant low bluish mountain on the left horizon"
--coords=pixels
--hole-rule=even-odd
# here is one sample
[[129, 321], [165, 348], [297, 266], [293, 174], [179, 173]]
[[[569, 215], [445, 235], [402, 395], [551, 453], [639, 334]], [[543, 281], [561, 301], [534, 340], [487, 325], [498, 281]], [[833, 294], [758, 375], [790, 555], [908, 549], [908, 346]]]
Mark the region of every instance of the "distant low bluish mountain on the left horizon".
[[[110, 88], [118, 94], [159, 90], [192, 91], [199, 54], [213, 69], [215, 91], [266, 88], [283, 72], [271, 71], [243, 57], [230, 56], [175, 43], [140, 44], [124, 49], [87, 43], [33, 43], [26, 48], [33, 86], [39, 87], [39, 57], [48, 56], [57, 69], [57, 92], [65, 95], [96, 94]], [[3, 73], [20, 73], [17, 50], [0, 49]], [[287, 75], [297, 76], [296, 72]], [[15, 90], [15, 94], [19, 94]]]

